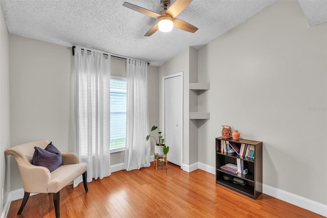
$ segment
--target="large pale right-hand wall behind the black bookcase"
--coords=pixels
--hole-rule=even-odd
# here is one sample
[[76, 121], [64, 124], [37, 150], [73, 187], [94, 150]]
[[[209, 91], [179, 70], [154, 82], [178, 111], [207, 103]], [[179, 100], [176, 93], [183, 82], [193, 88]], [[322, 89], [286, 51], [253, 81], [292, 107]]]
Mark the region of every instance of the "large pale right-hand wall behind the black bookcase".
[[[263, 183], [327, 205], [327, 24], [278, 1], [199, 49], [199, 162], [215, 166], [221, 125], [263, 141]], [[318, 108], [311, 111], [310, 108]]]

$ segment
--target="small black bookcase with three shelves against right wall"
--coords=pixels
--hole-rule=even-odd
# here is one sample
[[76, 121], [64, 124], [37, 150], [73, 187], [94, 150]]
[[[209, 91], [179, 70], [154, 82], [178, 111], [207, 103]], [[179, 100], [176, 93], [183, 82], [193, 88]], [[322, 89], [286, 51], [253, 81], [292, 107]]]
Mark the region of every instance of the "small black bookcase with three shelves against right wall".
[[[233, 145], [237, 145], [239, 148], [241, 148], [242, 143], [253, 145], [255, 151], [254, 157], [242, 157], [237, 155], [236, 152], [221, 152], [221, 143], [224, 140], [231, 142]], [[237, 164], [237, 159], [246, 162], [247, 174], [232, 173], [220, 168], [228, 163]], [[236, 184], [232, 180], [225, 180], [223, 177], [224, 175], [241, 179], [245, 182], [245, 185]], [[233, 140], [232, 138], [216, 138], [216, 183], [242, 193], [252, 199], [257, 199], [260, 194], [262, 194], [262, 142], [246, 139]]]

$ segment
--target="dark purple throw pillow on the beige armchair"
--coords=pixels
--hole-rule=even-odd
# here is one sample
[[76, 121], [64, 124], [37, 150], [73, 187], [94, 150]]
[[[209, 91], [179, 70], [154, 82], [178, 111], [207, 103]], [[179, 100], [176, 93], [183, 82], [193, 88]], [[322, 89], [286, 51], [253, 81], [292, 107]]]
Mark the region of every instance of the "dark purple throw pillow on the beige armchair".
[[62, 165], [60, 151], [50, 142], [44, 149], [35, 146], [35, 151], [32, 158], [32, 164], [36, 166], [44, 166], [54, 171]]

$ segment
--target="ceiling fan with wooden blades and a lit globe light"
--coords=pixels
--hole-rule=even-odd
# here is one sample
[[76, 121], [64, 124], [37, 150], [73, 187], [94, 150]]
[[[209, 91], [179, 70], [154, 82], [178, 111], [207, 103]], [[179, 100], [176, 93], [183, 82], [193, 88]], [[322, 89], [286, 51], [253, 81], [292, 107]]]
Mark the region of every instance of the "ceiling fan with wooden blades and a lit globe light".
[[[158, 22], [144, 35], [144, 36], [151, 36], [157, 30], [161, 32], [170, 32], [173, 27], [177, 27], [178, 29], [188, 31], [191, 33], [195, 33], [198, 28], [195, 26], [186, 23], [185, 21], [176, 18], [176, 16], [182, 12], [192, 0], [176, 0], [172, 6], [170, 6], [170, 0], [160, 0], [160, 5], [164, 8], [159, 13], [150, 11], [148, 9], [124, 2], [123, 6], [126, 8], [132, 9], [139, 13], [143, 13], [150, 17], [158, 19]], [[169, 7], [170, 6], [170, 7]]]

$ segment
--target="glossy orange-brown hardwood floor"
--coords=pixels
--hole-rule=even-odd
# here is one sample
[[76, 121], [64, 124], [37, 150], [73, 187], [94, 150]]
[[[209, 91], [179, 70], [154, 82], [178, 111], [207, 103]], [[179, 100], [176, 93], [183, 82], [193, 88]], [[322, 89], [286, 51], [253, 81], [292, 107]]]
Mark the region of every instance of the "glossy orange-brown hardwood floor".
[[[200, 169], [185, 172], [168, 164], [121, 170], [110, 177], [60, 191], [63, 217], [323, 217], [262, 194], [257, 200], [215, 183], [215, 175]], [[21, 199], [11, 202], [7, 217], [55, 217], [52, 194], [29, 198], [16, 215]]]

